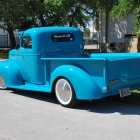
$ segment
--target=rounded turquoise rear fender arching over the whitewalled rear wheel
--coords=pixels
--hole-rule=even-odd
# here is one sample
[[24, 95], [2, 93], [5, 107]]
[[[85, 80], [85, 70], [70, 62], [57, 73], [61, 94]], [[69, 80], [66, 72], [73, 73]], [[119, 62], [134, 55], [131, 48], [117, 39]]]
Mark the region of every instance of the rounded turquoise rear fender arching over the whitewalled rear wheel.
[[93, 100], [102, 97], [102, 92], [96, 82], [87, 72], [79, 67], [63, 65], [56, 68], [52, 73], [51, 85], [53, 85], [59, 77], [65, 77], [71, 82], [77, 99]]

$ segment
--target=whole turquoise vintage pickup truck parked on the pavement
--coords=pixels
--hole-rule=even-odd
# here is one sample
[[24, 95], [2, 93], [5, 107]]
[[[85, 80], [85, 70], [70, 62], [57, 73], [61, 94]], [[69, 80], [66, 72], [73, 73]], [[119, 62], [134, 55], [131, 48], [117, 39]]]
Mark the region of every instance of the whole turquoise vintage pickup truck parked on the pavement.
[[20, 32], [20, 46], [0, 61], [0, 89], [55, 93], [64, 107], [80, 100], [131, 94], [140, 88], [138, 53], [84, 55], [81, 31], [38, 27]]

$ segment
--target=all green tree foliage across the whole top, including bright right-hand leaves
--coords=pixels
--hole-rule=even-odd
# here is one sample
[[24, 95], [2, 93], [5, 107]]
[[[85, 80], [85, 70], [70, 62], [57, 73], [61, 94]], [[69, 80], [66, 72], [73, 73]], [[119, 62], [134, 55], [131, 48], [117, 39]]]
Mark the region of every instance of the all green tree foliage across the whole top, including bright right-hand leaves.
[[140, 35], [139, 0], [0, 0], [0, 28], [8, 31], [14, 48], [14, 29], [59, 25], [84, 29], [90, 19], [98, 22], [103, 9], [111, 17], [136, 14], [135, 32]]

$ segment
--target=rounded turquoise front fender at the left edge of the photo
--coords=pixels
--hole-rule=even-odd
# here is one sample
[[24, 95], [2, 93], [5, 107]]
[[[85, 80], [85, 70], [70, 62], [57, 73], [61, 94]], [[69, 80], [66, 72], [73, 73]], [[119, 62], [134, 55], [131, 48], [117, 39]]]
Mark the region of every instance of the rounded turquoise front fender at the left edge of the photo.
[[18, 65], [13, 60], [0, 61], [0, 75], [6, 87], [24, 83]]

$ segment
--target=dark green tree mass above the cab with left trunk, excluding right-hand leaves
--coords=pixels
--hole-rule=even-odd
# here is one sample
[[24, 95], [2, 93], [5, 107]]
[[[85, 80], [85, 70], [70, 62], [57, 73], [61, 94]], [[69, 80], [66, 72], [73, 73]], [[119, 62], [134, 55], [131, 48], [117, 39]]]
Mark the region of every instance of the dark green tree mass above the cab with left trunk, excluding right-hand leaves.
[[13, 29], [56, 25], [85, 28], [95, 16], [93, 9], [90, 0], [0, 0], [0, 27], [8, 31], [14, 48]]

